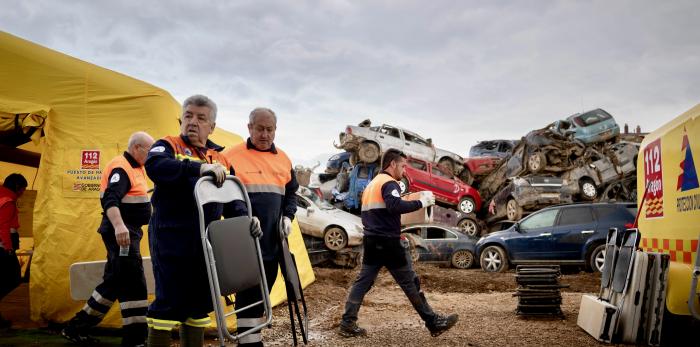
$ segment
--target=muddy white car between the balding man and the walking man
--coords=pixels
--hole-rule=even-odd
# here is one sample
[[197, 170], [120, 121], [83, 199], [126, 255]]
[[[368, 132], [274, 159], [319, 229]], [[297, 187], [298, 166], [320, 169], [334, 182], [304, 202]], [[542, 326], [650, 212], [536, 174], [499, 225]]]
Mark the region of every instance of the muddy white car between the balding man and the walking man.
[[297, 191], [295, 216], [302, 233], [323, 238], [330, 250], [362, 244], [362, 219], [333, 207], [306, 187]]

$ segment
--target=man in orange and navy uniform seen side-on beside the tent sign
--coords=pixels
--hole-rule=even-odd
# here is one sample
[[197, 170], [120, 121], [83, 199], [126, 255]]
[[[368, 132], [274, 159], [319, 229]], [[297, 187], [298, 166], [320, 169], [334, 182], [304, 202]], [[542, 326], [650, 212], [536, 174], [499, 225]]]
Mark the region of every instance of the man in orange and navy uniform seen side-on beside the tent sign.
[[102, 283], [61, 331], [73, 342], [95, 343], [88, 331], [119, 300], [122, 346], [144, 345], [148, 301], [139, 245], [143, 236], [141, 226], [148, 224], [151, 216], [143, 164], [152, 144], [153, 138], [145, 132], [132, 134], [127, 151], [112, 159], [103, 170], [100, 202], [104, 212], [98, 232], [107, 249], [107, 264]]

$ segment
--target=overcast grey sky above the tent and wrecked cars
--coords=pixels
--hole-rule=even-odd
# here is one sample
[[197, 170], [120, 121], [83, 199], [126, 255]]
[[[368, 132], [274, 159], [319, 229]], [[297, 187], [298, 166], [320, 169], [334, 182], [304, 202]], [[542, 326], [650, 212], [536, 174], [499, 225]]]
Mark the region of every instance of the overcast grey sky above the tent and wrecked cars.
[[464, 156], [597, 107], [648, 131], [700, 103], [697, 0], [0, 3], [0, 30], [206, 94], [244, 137], [272, 108], [295, 163], [365, 118]]

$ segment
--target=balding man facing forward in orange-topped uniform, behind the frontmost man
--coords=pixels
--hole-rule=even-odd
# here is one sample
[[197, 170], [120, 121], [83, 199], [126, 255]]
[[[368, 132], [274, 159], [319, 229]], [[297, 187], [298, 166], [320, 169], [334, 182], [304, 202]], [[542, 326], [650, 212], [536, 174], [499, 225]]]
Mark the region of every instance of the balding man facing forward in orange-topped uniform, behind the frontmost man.
[[[260, 219], [265, 275], [268, 288], [272, 289], [280, 263], [280, 228], [287, 237], [292, 231], [292, 219], [296, 212], [296, 191], [299, 184], [287, 155], [274, 144], [277, 116], [268, 108], [256, 108], [250, 112], [248, 132], [250, 137], [226, 152], [224, 156], [233, 167], [235, 175], [243, 182], [253, 208], [253, 216]], [[282, 225], [280, 225], [280, 223]], [[245, 307], [261, 300], [257, 288], [236, 294], [236, 307]], [[262, 322], [263, 309], [258, 306], [237, 317], [238, 332], [244, 332]], [[260, 332], [244, 336], [240, 346], [262, 346]]]

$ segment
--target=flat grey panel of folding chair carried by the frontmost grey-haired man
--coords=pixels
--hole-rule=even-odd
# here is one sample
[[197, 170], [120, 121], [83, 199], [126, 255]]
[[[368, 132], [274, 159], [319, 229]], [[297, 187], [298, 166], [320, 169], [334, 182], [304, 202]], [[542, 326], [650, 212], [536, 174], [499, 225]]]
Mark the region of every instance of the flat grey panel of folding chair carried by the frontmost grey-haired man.
[[209, 243], [216, 259], [222, 295], [260, 284], [260, 266], [255, 239], [250, 235], [250, 220], [243, 216], [209, 223]]

